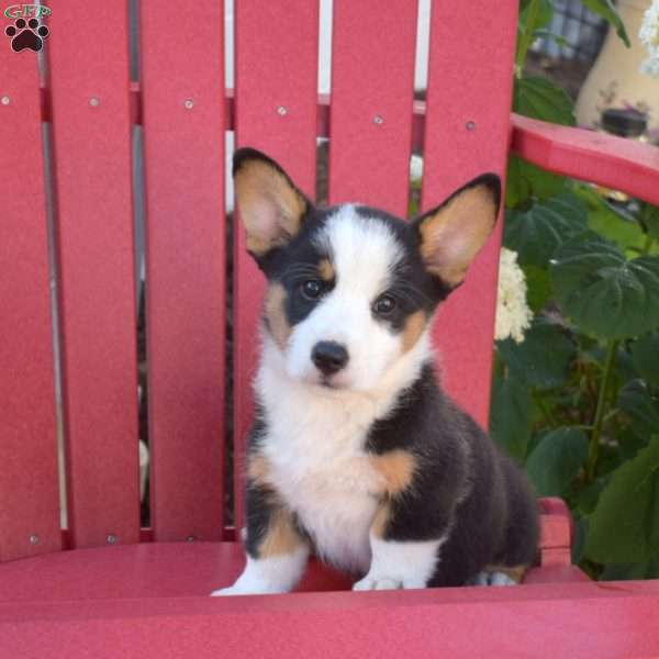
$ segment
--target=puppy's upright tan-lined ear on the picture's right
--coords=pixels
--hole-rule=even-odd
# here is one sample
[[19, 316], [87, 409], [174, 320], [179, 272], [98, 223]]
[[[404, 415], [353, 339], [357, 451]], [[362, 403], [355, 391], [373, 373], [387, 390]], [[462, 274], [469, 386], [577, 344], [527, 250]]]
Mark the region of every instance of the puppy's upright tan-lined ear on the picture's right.
[[501, 179], [485, 174], [415, 220], [426, 269], [450, 288], [460, 284], [494, 228], [500, 204]]

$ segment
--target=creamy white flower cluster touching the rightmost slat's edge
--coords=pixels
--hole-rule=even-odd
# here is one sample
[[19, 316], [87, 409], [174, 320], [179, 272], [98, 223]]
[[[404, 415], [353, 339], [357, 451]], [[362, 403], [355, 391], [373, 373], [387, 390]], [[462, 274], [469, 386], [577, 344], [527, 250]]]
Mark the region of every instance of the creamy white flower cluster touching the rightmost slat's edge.
[[517, 253], [502, 247], [494, 338], [503, 340], [512, 337], [516, 343], [522, 343], [532, 317], [533, 312], [526, 304], [526, 279], [517, 265]]

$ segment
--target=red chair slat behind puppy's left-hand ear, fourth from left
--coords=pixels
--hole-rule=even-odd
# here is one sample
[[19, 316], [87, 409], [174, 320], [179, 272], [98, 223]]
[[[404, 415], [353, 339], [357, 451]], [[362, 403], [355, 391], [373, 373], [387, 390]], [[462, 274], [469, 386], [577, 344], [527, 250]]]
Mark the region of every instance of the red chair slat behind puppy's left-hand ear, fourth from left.
[[[236, 143], [264, 150], [315, 198], [317, 2], [241, 0], [235, 7]], [[237, 221], [235, 221], [237, 223]], [[243, 457], [252, 423], [264, 280], [234, 232], [234, 472], [242, 520]]]

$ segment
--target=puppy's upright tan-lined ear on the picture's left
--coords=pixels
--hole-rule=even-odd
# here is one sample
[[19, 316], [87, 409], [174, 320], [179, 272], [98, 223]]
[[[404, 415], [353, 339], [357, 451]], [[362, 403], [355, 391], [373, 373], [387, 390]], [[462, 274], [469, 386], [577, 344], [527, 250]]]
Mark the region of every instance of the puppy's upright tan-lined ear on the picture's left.
[[259, 258], [286, 245], [300, 231], [311, 202], [275, 160], [254, 148], [235, 153], [233, 177], [247, 250]]

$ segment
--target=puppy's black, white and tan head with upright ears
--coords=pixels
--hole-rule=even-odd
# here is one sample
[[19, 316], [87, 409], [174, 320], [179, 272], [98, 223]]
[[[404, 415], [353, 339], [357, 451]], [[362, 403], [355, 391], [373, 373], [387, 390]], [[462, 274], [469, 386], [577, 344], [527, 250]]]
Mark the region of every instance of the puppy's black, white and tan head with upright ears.
[[287, 371], [355, 391], [373, 389], [414, 348], [485, 244], [501, 198], [499, 177], [484, 175], [411, 223], [362, 205], [321, 209], [248, 148], [236, 152], [234, 180]]

